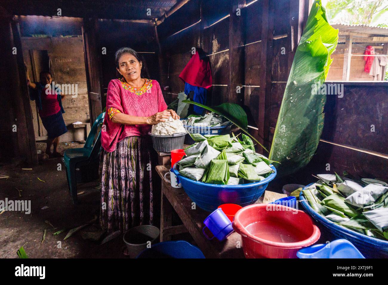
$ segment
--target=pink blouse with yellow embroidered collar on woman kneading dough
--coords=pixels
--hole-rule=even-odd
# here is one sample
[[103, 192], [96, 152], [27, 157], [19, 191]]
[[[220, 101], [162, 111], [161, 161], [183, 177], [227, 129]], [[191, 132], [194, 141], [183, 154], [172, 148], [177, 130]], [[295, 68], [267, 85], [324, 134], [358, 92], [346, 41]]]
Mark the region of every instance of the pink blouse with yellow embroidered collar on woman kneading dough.
[[[124, 125], [113, 123], [117, 113], [149, 117], [167, 109], [162, 90], [156, 80], [145, 79], [142, 87], [134, 88], [123, 79], [109, 82], [106, 98], [105, 131], [101, 132], [101, 145], [107, 152], [113, 152], [116, 144], [127, 136], [146, 136], [152, 126], [148, 124]], [[103, 126], [104, 127], [104, 126]]]

